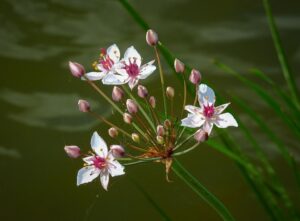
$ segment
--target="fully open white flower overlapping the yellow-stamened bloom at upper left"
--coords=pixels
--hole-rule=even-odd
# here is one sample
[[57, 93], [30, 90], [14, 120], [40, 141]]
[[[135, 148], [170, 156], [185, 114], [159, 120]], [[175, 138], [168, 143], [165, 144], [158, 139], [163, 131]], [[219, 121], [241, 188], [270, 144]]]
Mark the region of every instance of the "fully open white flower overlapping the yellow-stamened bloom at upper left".
[[129, 47], [124, 54], [124, 59], [115, 65], [116, 73], [106, 75], [102, 79], [103, 84], [119, 85], [128, 83], [129, 87], [133, 89], [140, 79], [147, 78], [156, 69], [152, 65], [154, 60], [144, 65], [141, 65], [141, 63], [141, 55], [133, 46]]

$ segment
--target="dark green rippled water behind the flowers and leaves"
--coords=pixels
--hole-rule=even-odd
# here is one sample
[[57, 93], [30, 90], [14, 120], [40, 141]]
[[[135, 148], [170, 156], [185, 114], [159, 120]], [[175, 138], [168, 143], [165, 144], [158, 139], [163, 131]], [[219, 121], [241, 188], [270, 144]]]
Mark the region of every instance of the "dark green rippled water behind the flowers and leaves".
[[[244, 97], [274, 125], [275, 131], [282, 131], [291, 148], [297, 147], [257, 97], [211, 63], [219, 58], [244, 72], [259, 67], [277, 82], [283, 81], [261, 1], [130, 2], [161, 40], [179, 58], [200, 69], [218, 92]], [[272, 4], [292, 69], [298, 73], [300, 3], [290, 0]], [[171, 175], [174, 182], [167, 183], [160, 164], [128, 167], [127, 176], [111, 180], [108, 192], [98, 181], [76, 187], [76, 173], [82, 163], [68, 159], [63, 146], [88, 148], [94, 130], [105, 128], [106, 133], [105, 126], [77, 111], [77, 100], [91, 100], [106, 116], [110, 108], [88, 86], [70, 76], [67, 62], [75, 60], [88, 66], [99, 48], [112, 43], [117, 43], [122, 52], [134, 45], [145, 61], [154, 57], [143, 31], [118, 1], [2, 0], [0, 17], [1, 220], [160, 220], [134, 182], [172, 220], [219, 220], [175, 175]], [[144, 83], [156, 93], [158, 80], [156, 74]], [[297, 76], [297, 83], [299, 80]], [[171, 74], [167, 83], [178, 84]], [[105, 90], [110, 93], [109, 87]], [[239, 114], [245, 118], [245, 114]], [[230, 131], [236, 134], [237, 130]], [[243, 142], [238, 133], [236, 137]], [[293, 180], [282, 159], [264, 137], [261, 142], [294, 195]], [[238, 220], [267, 220], [232, 161], [205, 146], [181, 157], [181, 161]]]

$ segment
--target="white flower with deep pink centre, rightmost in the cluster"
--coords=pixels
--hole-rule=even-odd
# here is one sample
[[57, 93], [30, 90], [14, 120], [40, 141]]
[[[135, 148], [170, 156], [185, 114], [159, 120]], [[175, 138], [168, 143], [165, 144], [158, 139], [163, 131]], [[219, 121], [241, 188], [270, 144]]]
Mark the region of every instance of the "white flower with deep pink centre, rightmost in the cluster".
[[191, 128], [203, 126], [204, 131], [208, 134], [211, 133], [213, 125], [219, 128], [238, 126], [236, 120], [230, 113], [222, 114], [230, 103], [215, 107], [215, 93], [206, 84], [200, 84], [198, 98], [200, 107], [192, 105], [185, 106], [185, 110], [187, 110], [189, 114], [187, 118], [181, 120], [182, 126]]

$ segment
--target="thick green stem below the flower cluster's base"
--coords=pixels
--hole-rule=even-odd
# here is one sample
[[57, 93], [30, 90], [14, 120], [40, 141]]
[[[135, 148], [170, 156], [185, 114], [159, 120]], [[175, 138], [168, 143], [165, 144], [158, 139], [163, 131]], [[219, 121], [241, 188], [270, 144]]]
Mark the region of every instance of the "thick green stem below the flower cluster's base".
[[172, 169], [197, 195], [206, 201], [225, 221], [235, 220], [224, 204], [209, 192], [192, 174], [186, 170], [178, 160], [174, 159]]

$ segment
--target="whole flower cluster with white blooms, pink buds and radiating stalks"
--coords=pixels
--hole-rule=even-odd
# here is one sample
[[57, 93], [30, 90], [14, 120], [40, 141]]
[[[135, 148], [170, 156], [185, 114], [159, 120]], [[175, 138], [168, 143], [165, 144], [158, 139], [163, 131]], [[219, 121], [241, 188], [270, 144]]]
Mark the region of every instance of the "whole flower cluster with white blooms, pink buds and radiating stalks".
[[[89, 113], [110, 128], [108, 131], [93, 133], [88, 154], [82, 154], [78, 146], [65, 146], [69, 157], [82, 157], [84, 162], [77, 174], [77, 185], [100, 177], [102, 187], [107, 190], [110, 176], [124, 175], [125, 167], [146, 162], [164, 164], [166, 179], [169, 181], [173, 159], [205, 142], [214, 125], [219, 128], [238, 126], [230, 113], [223, 113], [229, 103], [216, 106], [215, 93], [208, 85], [201, 83], [200, 72], [193, 69], [188, 76], [189, 81], [186, 80], [185, 65], [178, 59], [174, 60], [174, 69], [183, 76], [183, 91], [178, 93], [176, 105], [182, 100], [182, 108], [174, 110], [175, 90], [165, 85], [157, 49], [158, 36], [153, 30], [147, 31], [146, 42], [154, 48], [156, 57], [147, 63], [143, 63], [141, 55], [133, 46], [121, 57], [116, 44], [101, 49], [91, 72], [86, 72], [79, 63], [69, 62], [72, 75], [95, 89], [115, 110], [114, 114], [121, 115], [125, 122], [113, 123], [94, 112], [88, 101], [78, 101], [81, 112]], [[146, 78], [155, 75], [157, 69], [163, 103], [161, 108], [156, 104], [157, 98], [144, 85]], [[187, 83], [195, 86], [194, 98], [187, 97]], [[103, 92], [102, 85], [111, 85], [111, 96]], [[126, 129], [122, 125], [126, 125]], [[109, 147], [101, 137], [106, 133], [115, 141]]]

